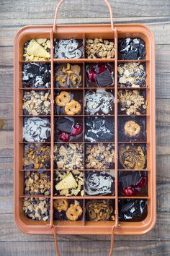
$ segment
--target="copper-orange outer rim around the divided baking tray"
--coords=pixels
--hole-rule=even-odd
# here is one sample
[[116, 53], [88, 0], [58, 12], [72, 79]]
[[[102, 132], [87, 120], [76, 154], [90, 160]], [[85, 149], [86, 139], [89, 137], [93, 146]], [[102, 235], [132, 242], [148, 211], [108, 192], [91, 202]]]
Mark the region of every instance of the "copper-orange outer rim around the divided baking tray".
[[[68, 27], [68, 28], [73, 28], [73, 27], [110, 27], [109, 24], [107, 23], [95, 23], [95, 24], [60, 24], [57, 25], [57, 27]], [[27, 32], [27, 30], [30, 29], [43, 29], [43, 28], [49, 28], [49, 33], [50, 33], [50, 29], [52, 29], [53, 25], [28, 25], [28, 26], [24, 26], [21, 27], [18, 31], [17, 34], [15, 35], [14, 38], [14, 73], [17, 72], [17, 52], [18, 52], [18, 42], [19, 42], [19, 38], [22, 36], [22, 33], [24, 31]], [[120, 32], [120, 28], [125, 28], [125, 27], [138, 27], [140, 29], [144, 29], [145, 33], [143, 33], [143, 35], [146, 35], [148, 37], [148, 39], [150, 40], [151, 43], [151, 56], [152, 56], [152, 72], [151, 74], [154, 74], [153, 76], [151, 76], [151, 81], [150, 84], [152, 85], [152, 103], [153, 103], [153, 109], [152, 112], [150, 114], [150, 118], [151, 118], [151, 137], [152, 137], [152, 159], [151, 159], [151, 163], [152, 163], [152, 171], [151, 171], [151, 175], [152, 175], [152, 198], [153, 195], [155, 195], [154, 200], [152, 200], [152, 212], [151, 212], [151, 218], [148, 220], [148, 222], [145, 224], [145, 226], [143, 226], [143, 230], [137, 230], [134, 232], [132, 231], [123, 231], [123, 227], [121, 228], [120, 226], [115, 229], [115, 234], [119, 234], [119, 235], [134, 235], [134, 234], [146, 234], [148, 231], [150, 231], [151, 229], [153, 229], [153, 226], [156, 223], [156, 121], [155, 121], [155, 40], [154, 40], [154, 35], [151, 31], [151, 29], [143, 24], [140, 23], [116, 23], [115, 27], [117, 27], [117, 32]], [[111, 27], [110, 27], [110, 31]], [[82, 33], [84, 33], [82, 31]], [[142, 32], [141, 32], [142, 33]], [[16, 81], [16, 76], [14, 76], [14, 221], [17, 225], [17, 227], [23, 231], [26, 234], [53, 234], [53, 229], [47, 229], [47, 226], [40, 226], [40, 225], [36, 225], [36, 226], [31, 226], [33, 227], [33, 229], [28, 230], [27, 228], [30, 228], [29, 225], [26, 225], [21, 218], [19, 217], [19, 213], [17, 212], [17, 208], [19, 208], [19, 205], [17, 203], [17, 177], [16, 177], [16, 172], [17, 172], [17, 168], [16, 168], [16, 162], [17, 162], [17, 158], [16, 158], [16, 148], [17, 148], [17, 140], [16, 138], [16, 134], [17, 134], [17, 121], [16, 121], [16, 107], [17, 107], [17, 92], [15, 89], [17, 89], [17, 81]], [[135, 222], [134, 222], [135, 223]], [[139, 223], [139, 222], [138, 222]], [[123, 226], [123, 223], [121, 222], [121, 225]], [[133, 224], [132, 224], [133, 225]], [[134, 225], [135, 226], [135, 225]], [[36, 227], [36, 229], [35, 229]], [[108, 231], [88, 231], [85, 230], [84, 227], [86, 226], [79, 226], [81, 231], [73, 231], [73, 229], [71, 231], [60, 231], [60, 226], [58, 226], [58, 234], [110, 234], [111, 233], [111, 228], [112, 226], [108, 226]], [[91, 226], [92, 227], [92, 226]], [[102, 226], [94, 226], [96, 229], [101, 229]], [[71, 228], [71, 226], [70, 226]], [[43, 231], [43, 229], [45, 229]], [[68, 229], [68, 226], [66, 226], [66, 229]]]

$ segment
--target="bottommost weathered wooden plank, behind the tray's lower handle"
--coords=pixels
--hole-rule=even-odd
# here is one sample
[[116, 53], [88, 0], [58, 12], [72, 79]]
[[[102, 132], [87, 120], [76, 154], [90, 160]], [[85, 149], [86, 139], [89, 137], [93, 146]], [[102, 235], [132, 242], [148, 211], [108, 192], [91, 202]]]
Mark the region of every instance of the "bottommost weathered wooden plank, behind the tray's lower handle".
[[[67, 245], [66, 245], [67, 244]], [[105, 256], [109, 253], [110, 242], [58, 242], [61, 255], [64, 256], [89, 256], [92, 250], [93, 256]], [[3, 242], [0, 244], [1, 252], [6, 256], [56, 256], [53, 242]], [[69, 251], [68, 251], [69, 248]], [[115, 256], [138, 256], [161, 255], [169, 256], [169, 242], [135, 242], [132, 246], [130, 242], [115, 242]]]

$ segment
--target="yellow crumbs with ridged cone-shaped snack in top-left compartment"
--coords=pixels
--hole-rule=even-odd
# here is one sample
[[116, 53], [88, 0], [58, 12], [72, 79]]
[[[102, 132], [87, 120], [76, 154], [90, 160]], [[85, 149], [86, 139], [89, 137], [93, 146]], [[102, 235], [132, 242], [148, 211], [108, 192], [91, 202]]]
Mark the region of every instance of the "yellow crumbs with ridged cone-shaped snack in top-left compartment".
[[27, 41], [24, 46], [25, 61], [49, 61], [50, 40], [38, 38]]

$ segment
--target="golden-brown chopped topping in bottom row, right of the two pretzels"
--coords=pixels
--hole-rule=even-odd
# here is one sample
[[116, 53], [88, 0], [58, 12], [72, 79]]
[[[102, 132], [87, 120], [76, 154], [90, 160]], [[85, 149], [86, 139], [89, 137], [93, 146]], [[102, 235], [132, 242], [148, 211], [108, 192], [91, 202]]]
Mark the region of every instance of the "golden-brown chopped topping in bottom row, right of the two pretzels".
[[109, 200], [91, 200], [86, 204], [86, 215], [89, 221], [115, 221], [113, 207]]

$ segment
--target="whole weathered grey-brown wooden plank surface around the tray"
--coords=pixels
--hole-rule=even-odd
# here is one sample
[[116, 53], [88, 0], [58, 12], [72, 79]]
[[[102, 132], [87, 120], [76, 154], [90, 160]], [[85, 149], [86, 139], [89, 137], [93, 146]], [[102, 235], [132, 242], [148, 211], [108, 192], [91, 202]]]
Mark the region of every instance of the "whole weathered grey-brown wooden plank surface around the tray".
[[[170, 255], [170, 1], [110, 0], [115, 22], [140, 22], [156, 37], [157, 222], [143, 236], [115, 236], [116, 256]], [[56, 0], [0, 1], [0, 255], [54, 256], [53, 236], [27, 235], [13, 220], [13, 43], [24, 25], [53, 23]], [[69, 0], [58, 23], [109, 22], [102, 0]], [[59, 236], [62, 256], [107, 256], [109, 236]]]

